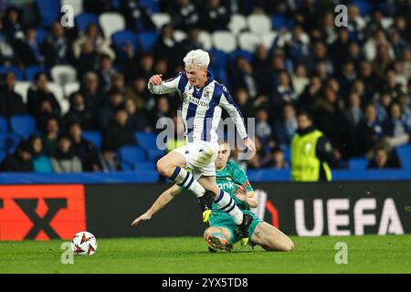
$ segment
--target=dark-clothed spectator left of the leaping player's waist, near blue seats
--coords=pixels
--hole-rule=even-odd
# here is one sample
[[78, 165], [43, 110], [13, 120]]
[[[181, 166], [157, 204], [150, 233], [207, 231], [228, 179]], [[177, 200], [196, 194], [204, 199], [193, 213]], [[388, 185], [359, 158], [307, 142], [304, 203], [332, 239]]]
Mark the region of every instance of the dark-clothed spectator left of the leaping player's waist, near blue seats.
[[114, 120], [111, 121], [103, 137], [104, 147], [117, 151], [122, 146], [136, 144], [134, 131], [127, 123], [127, 120], [127, 112], [125, 110], [117, 110], [115, 112]]

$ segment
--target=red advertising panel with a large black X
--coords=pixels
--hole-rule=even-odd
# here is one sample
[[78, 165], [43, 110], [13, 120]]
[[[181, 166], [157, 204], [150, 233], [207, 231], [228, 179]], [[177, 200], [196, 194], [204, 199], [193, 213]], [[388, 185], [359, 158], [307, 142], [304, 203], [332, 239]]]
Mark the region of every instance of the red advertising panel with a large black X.
[[0, 186], [0, 240], [71, 239], [86, 230], [84, 186]]

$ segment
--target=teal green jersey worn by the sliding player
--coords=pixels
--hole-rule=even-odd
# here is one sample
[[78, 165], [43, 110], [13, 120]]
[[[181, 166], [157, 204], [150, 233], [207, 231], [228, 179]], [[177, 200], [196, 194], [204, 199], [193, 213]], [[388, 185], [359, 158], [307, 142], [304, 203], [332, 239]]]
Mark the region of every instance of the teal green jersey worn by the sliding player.
[[[227, 192], [237, 203], [241, 210], [249, 210], [249, 207], [239, 201], [236, 197], [237, 184], [247, 183], [247, 192], [252, 192], [253, 188], [248, 183], [246, 172], [236, 162], [227, 162], [227, 165], [221, 171], [216, 171], [216, 183], [218, 188]], [[221, 211], [216, 203], [213, 203], [213, 211]]]

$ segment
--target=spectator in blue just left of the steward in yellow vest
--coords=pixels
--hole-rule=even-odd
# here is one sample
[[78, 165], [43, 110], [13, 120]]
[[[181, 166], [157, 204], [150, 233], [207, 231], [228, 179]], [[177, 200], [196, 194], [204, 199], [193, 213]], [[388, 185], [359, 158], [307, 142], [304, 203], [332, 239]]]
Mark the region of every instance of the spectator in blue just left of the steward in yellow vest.
[[292, 137], [297, 130], [297, 117], [295, 108], [291, 103], [284, 104], [281, 118], [275, 121], [275, 137], [279, 142], [279, 147], [290, 146]]

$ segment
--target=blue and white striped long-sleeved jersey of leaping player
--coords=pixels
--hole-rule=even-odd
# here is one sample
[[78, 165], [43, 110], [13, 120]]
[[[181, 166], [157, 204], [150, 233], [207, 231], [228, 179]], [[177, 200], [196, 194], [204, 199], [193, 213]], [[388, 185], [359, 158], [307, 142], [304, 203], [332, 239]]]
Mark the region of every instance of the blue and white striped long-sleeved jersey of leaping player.
[[163, 81], [162, 85], [149, 82], [148, 89], [153, 94], [165, 94], [178, 91], [182, 98], [182, 114], [185, 126], [185, 136], [188, 142], [218, 140], [216, 129], [221, 120], [221, 108], [227, 110], [231, 119], [237, 125], [237, 131], [242, 139], [247, 138], [244, 120], [237, 105], [231, 98], [227, 88], [216, 82], [211, 72], [202, 89], [195, 89], [189, 82], [185, 72]]

